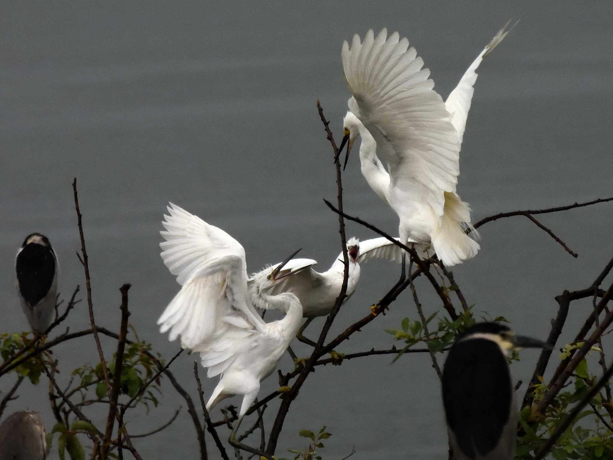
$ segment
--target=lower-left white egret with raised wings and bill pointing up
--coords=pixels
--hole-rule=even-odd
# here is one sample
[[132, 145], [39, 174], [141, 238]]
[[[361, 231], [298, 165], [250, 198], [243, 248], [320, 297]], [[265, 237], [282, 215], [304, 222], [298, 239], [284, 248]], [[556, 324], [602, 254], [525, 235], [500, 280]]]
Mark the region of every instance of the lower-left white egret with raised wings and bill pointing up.
[[[170, 203], [168, 210], [161, 256], [181, 290], [160, 316], [160, 332], [169, 331], [171, 341], [180, 337], [181, 347], [200, 353], [208, 377], [222, 375], [207, 409], [241, 394], [242, 418], [296, 335], [302, 305], [294, 294], [268, 295], [272, 281], [250, 299], [240, 243], [177, 205]], [[277, 272], [281, 269], [283, 263]], [[285, 312], [284, 318], [265, 323], [254, 308], [264, 304]]]

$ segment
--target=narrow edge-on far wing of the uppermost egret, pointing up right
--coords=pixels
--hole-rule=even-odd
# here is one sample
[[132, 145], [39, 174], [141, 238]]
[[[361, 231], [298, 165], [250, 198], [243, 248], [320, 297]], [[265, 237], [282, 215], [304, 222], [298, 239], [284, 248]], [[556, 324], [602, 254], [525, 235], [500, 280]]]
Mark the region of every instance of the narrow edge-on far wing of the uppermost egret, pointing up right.
[[502, 29], [498, 31], [498, 33], [493, 37], [493, 39], [487, 44], [483, 51], [479, 53], [476, 59], [474, 59], [473, 63], [470, 64], [468, 70], [464, 72], [462, 75], [462, 79], [457, 86], [455, 86], [454, 90], [451, 91], [447, 101], [445, 101], [445, 107], [449, 115], [451, 115], [451, 123], [454, 125], [455, 131], [457, 131], [460, 136], [460, 142], [464, 137], [464, 129], [466, 128], [466, 118], [468, 118], [468, 110], [470, 110], [470, 103], [473, 99], [474, 93], [474, 82], [477, 81], [477, 67], [481, 64], [481, 61], [485, 56], [489, 55], [490, 52], [506, 37], [506, 34], [509, 33], [510, 30], [506, 30], [508, 27], [508, 23], [504, 25]]

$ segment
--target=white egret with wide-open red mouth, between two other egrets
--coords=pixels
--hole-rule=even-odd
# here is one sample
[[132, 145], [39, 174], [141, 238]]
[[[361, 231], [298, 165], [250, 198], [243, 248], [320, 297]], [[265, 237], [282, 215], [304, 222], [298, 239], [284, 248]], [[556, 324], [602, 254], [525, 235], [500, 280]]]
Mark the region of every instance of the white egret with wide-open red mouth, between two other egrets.
[[[373, 258], [400, 262], [403, 250], [385, 237], [365, 241], [353, 237], [347, 242], [347, 252], [349, 278], [345, 301], [356, 291], [360, 279], [360, 263]], [[251, 275], [248, 282], [249, 295], [252, 299], [264, 290], [269, 295], [283, 292], [295, 294], [302, 304], [302, 315], [308, 318], [298, 331], [298, 340], [313, 346], [315, 343], [303, 337], [302, 333], [314, 318], [332, 312], [345, 275], [343, 253], [334, 259], [332, 266], [325, 272], [316, 272], [313, 269], [316, 264], [317, 261], [313, 259], [292, 259], [284, 264], [283, 270], [278, 270], [280, 264], [268, 266]], [[263, 283], [268, 283], [269, 287], [262, 287]]]

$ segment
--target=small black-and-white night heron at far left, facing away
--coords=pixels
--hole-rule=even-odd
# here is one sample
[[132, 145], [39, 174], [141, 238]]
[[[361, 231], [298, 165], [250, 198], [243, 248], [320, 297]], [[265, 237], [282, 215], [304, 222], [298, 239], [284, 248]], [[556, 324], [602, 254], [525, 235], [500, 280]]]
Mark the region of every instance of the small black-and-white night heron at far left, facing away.
[[17, 293], [35, 335], [44, 334], [51, 324], [58, 292], [58, 258], [48, 238], [28, 235], [17, 253]]

